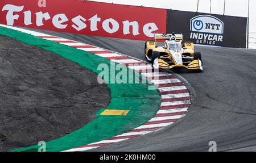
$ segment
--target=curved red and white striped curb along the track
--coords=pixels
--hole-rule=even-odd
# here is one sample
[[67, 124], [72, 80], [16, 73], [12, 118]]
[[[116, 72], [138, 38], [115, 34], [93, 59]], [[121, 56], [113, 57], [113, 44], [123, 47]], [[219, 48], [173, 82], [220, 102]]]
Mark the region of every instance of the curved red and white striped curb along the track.
[[[40, 32], [24, 30], [22, 28], [5, 26], [1, 24], [0, 26], [31, 34], [36, 37], [41, 37], [42, 39], [51, 40], [56, 43], [80, 49], [82, 51], [94, 53], [97, 56], [101, 56], [119, 64], [126, 65], [128, 68], [141, 73], [144, 77], [147, 77], [149, 81], [158, 87], [162, 97], [162, 103], [160, 105], [159, 111], [152, 119], [148, 120], [148, 122], [144, 123], [142, 126], [132, 129], [129, 132], [122, 133], [121, 135], [117, 135], [106, 140], [101, 140], [96, 143], [87, 144], [82, 147], [72, 148], [65, 152], [88, 151], [89, 149], [94, 149], [104, 145], [109, 145], [134, 137], [146, 135], [147, 133], [158, 131], [159, 129], [177, 122], [177, 120], [183, 118], [187, 113], [190, 104], [189, 91], [183, 82], [176, 78], [174, 74], [167, 72], [154, 72], [154, 70], [151, 68], [151, 65], [144, 61], [137, 60], [120, 53], [111, 52], [106, 49], [94, 47], [93, 45], [79, 43], [77, 41], [52, 35], [42, 34]], [[134, 64], [134, 66], [130, 66], [131, 64]], [[150, 73], [148, 73], [148, 70]]]

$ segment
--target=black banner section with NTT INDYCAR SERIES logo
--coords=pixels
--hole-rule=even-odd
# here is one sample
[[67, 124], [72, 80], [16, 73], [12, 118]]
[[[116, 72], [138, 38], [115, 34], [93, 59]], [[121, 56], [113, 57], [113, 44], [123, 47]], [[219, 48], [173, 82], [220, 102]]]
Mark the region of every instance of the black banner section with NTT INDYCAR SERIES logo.
[[184, 40], [200, 45], [246, 48], [246, 18], [167, 11], [167, 32], [182, 33]]

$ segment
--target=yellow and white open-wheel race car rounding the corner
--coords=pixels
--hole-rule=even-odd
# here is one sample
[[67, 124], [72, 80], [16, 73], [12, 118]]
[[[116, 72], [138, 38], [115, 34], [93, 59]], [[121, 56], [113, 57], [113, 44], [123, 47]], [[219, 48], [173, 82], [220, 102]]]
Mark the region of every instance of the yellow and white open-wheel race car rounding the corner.
[[[164, 45], [157, 46], [157, 40], [165, 40]], [[182, 34], [155, 34], [155, 40], [146, 41], [144, 53], [155, 69], [184, 67], [203, 71], [201, 53], [194, 52], [194, 44], [183, 41]]]

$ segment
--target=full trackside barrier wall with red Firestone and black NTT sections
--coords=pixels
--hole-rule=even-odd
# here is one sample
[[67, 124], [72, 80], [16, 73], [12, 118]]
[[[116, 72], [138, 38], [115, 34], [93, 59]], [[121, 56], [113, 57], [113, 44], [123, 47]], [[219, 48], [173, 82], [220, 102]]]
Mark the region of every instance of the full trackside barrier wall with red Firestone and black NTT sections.
[[181, 33], [184, 40], [246, 48], [247, 18], [102, 2], [1, 0], [0, 23], [57, 32], [148, 40], [154, 33]]

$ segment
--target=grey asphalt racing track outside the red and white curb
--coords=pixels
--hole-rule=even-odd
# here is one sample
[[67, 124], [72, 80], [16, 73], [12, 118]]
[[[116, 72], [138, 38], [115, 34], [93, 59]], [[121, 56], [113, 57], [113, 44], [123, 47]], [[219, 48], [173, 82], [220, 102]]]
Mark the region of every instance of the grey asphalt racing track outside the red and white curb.
[[[144, 41], [43, 31], [145, 60]], [[158, 132], [94, 151], [256, 151], [256, 50], [196, 47], [204, 72], [172, 69], [188, 81], [192, 105], [185, 118]]]

